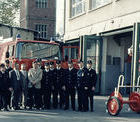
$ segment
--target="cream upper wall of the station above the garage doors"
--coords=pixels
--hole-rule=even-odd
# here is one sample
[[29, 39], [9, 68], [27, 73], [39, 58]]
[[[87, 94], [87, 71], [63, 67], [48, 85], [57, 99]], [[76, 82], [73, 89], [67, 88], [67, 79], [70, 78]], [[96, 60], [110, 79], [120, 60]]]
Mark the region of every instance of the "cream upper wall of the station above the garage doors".
[[69, 17], [69, 1], [66, 1], [65, 40], [130, 26], [140, 21], [140, 0], [113, 0], [111, 4], [92, 11], [89, 11], [89, 0], [86, 0], [85, 13], [72, 19]]

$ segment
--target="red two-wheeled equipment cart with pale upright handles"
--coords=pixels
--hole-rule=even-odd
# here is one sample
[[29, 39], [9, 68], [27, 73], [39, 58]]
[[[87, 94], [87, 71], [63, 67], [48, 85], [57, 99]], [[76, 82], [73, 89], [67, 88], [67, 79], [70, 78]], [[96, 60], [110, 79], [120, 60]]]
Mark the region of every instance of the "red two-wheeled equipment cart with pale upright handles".
[[[123, 100], [123, 97], [119, 92], [120, 88], [132, 89], [133, 92], [130, 93], [128, 100]], [[140, 112], [140, 76], [138, 77], [137, 84], [132, 86], [124, 85], [124, 76], [120, 75], [118, 86], [107, 101], [107, 112], [112, 116], [116, 116], [122, 110], [123, 104], [129, 104], [131, 110], [137, 113]]]

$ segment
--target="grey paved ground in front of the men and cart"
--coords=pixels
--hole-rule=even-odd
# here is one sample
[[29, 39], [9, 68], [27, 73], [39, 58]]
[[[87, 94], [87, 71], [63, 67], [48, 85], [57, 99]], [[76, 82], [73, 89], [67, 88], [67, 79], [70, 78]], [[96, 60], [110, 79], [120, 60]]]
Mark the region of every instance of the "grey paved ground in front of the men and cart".
[[0, 112], [0, 122], [140, 122], [140, 114], [128, 110], [125, 105], [119, 116], [106, 113], [107, 97], [95, 97], [95, 112], [73, 112], [71, 110], [10, 111]]

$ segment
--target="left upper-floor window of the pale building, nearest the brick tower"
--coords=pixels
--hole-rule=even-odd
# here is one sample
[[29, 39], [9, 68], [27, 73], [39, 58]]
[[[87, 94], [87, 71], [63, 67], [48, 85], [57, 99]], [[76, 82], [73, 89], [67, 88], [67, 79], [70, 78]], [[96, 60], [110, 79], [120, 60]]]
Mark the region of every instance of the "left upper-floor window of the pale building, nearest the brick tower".
[[71, 17], [85, 12], [84, 0], [71, 0]]

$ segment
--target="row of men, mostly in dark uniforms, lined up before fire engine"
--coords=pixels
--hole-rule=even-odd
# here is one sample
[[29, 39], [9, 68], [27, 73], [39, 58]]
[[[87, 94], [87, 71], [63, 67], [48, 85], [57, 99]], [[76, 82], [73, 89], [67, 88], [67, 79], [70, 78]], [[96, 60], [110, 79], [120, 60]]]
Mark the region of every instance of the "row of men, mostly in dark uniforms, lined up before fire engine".
[[[57, 109], [71, 108], [76, 110], [76, 93], [78, 95], [78, 111], [93, 111], [93, 96], [96, 85], [96, 72], [92, 62], [79, 61], [79, 69], [74, 68], [73, 62], [68, 62], [68, 69], [63, 69], [61, 61], [47, 62], [44, 67], [41, 60], [32, 63], [32, 68], [26, 71], [26, 65], [15, 64], [14, 69], [9, 61], [0, 65], [0, 109], [12, 107], [20, 109]], [[3, 87], [5, 86], [5, 87]], [[4, 90], [3, 90], [4, 89]], [[12, 98], [12, 100], [11, 100]], [[51, 99], [52, 98], [52, 99]], [[70, 100], [69, 100], [70, 99]], [[89, 102], [90, 100], [90, 102]], [[12, 104], [11, 104], [12, 102]]]

